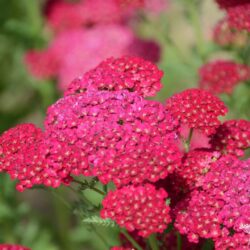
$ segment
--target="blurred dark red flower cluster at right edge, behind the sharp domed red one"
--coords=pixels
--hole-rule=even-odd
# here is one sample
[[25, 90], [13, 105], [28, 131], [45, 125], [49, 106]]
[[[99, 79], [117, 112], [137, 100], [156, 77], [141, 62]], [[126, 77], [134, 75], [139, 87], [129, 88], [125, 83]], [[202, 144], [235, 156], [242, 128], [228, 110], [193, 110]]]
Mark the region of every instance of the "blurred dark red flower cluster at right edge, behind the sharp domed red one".
[[199, 75], [200, 88], [214, 94], [231, 94], [237, 84], [250, 79], [250, 67], [233, 61], [217, 60], [204, 64]]

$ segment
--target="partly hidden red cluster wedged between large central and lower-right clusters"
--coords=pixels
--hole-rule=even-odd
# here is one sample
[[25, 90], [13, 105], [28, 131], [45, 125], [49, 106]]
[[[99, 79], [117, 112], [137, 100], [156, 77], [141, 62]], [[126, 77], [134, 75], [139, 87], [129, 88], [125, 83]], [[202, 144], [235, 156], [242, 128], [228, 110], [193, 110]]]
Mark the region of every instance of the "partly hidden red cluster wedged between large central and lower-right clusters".
[[210, 169], [211, 164], [220, 157], [219, 152], [213, 152], [204, 149], [196, 149], [188, 152], [184, 157], [182, 164], [176, 169], [176, 178], [182, 179], [182, 186], [189, 190], [195, 187], [195, 184]]

